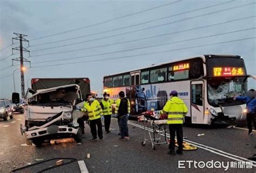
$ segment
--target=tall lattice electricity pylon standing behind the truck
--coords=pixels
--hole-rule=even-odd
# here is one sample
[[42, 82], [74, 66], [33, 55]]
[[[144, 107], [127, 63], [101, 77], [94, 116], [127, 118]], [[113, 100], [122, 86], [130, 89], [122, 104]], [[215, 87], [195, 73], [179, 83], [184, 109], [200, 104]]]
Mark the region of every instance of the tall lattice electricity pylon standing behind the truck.
[[[24, 67], [23, 67], [23, 65], [24, 65], [24, 62], [29, 62], [29, 64], [30, 64], [30, 61], [23, 57], [23, 51], [29, 52], [29, 50], [22, 46], [22, 41], [27, 41], [28, 46], [29, 46], [29, 40], [26, 40], [24, 38], [28, 35], [18, 34], [18, 33], [14, 33], [14, 34], [17, 35], [18, 37], [12, 38], [12, 44], [14, 44], [14, 40], [19, 40], [19, 47], [12, 48], [12, 54], [14, 54], [14, 50], [17, 50], [17, 51], [19, 51], [19, 57], [17, 57], [16, 59], [12, 59], [12, 66], [14, 66], [14, 61], [20, 61], [21, 62], [21, 67], [20, 67], [20, 70], [21, 70], [21, 90], [22, 90], [22, 98], [25, 98]], [[31, 67], [31, 64], [30, 64], [30, 67]]]

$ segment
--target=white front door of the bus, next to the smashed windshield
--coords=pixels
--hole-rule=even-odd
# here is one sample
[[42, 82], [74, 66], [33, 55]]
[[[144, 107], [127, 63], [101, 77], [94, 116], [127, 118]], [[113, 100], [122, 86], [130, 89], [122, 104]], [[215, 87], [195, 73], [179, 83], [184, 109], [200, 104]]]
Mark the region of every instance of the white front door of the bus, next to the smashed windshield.
[[204, 81], [191, 81], [191, 122], [204, 124]]

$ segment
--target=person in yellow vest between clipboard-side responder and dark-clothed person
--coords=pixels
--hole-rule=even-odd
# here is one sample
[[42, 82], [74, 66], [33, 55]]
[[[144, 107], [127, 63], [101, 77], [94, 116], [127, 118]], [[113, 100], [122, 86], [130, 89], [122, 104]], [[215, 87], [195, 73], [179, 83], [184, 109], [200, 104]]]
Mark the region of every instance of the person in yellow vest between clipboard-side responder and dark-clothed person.
[[112, 104], [114, 101], [109, 98], [109, 94], [106, 92], [103, 94], [102, 102], [100, 106], [102, 106], [103, 116], [104, 116], [104, 125], [105, 125], [105, 133], [110, 133], [109, 127], [111, 122], [111, 114], [112, 114]]

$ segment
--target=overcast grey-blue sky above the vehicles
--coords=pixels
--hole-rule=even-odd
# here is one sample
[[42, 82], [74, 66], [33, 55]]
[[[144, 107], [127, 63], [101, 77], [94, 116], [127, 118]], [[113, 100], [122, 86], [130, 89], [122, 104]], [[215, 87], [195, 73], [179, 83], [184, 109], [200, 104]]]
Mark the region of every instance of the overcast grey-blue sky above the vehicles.
[[0, 98], [14, 92], [13, 76], [21, 92], [14, 32], [30, 45], [25, 89], [31, 78], [89, 77], [99, 90], [104, 75], [203, 54], [240, 55], [256, 75], [255, 2], [0, 1]]

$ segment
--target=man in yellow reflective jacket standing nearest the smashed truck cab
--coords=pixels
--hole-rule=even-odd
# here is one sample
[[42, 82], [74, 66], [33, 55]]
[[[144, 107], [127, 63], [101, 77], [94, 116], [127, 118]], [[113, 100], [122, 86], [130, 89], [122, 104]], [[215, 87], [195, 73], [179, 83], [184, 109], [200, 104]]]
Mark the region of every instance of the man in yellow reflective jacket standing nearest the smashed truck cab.
[[100, 120], [100, 116], [103, 114], [102, 107], [99, 102], [93, 99], [92, 95], [89, 93], [86, 95], [87, 102], [84, 103], [84, 107], [81, 109], [83, 112], [87, 112], [89, 116], [89, 124], [92, 133], [92, 140], [97, 139], [97, 129], [98, 128], [98, 136], [99, 139], [103, 139], [102, 133], [102, 121]]

